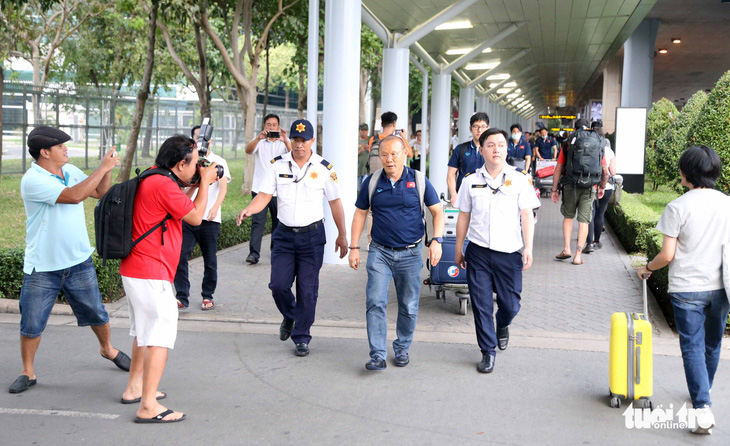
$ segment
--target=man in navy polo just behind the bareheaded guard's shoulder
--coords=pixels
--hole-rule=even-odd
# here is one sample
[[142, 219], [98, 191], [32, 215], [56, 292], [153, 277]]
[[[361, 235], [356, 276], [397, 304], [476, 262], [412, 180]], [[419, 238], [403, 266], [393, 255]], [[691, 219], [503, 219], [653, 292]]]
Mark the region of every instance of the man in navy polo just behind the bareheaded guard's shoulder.
[[[489, 129], [489, 116], [486, 113], [477, 112], [469, 119], [472, 140], [459, 144], [454, 147], [449, 158], [449, 171], [446, 174], [446, 184], [449, 185], [449, 195], [451, 204], [456, 202], [456, 193], [459, 192], [461, 180], [468, 173], [476, 172], [476, 170], [484, 165], [484, 158], [479, 153], [477, 143], [479, 136]], [[476, 141], [476, 142], [475, 142]]]

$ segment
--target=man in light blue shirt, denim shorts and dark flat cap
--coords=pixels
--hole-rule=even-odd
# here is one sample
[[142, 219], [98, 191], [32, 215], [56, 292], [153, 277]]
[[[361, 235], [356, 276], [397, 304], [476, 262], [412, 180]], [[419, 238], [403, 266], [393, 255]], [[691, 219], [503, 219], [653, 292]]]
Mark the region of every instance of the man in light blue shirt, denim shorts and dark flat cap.
[[36, 384], [33, 368], [53, 303], [66, 296], [79, 326], [90, 325], [99, 339], [99, 353], [122, 370], [130, 359], [111, 344], [109, 316], [101, 303], [93, 249], [86, 232], [83, 201], [101, 198], [111, 186], [111, 171], [119, 165], [112, 148], [90, 176], [67, 164], [65, 132], [39, 126], [28, 135], [28, 152], [35, 162], [23, 175], [20, 193], [25, 205], [26, 247], [20, 290], [20, 351], [23, 370], [10, 386], [20, 393]]

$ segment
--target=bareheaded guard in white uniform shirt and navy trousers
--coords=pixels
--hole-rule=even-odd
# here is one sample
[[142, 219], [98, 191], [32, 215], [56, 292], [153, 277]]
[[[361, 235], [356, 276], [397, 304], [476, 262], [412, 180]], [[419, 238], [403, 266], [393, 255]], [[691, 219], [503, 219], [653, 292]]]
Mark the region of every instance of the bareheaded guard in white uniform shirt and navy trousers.
[[[491, 373], [499, 341], [507, 348], [508, 326], [520, 310], [522, 271], [532, 265], [533, 209], [540, 206], [523, 172], [506, 165], [507, 133], [489, 129], [479, 137], [484, 166], [464, 177], [456, 200], [456, 264], [466, 269], [482, 361], [477, 370]], [[464, 240], [469, 235], [466, 253]], [[524, 244], [523, 244], [524, 243]], [[524, 250], [520, 253], [520, 249]], [[494, 302], [497, 293], [497, 330]]]

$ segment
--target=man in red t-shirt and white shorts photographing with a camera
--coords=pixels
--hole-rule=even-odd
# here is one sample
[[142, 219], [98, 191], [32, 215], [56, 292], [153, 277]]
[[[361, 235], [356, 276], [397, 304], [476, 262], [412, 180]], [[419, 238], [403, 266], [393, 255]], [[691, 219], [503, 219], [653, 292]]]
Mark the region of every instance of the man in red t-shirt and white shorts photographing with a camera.
[[[175, 271], [182, 246], [182, 222], [199, 225], [205, 216], [208, 187], [217, 180], [215, 163], [200, 169], [200, 184], [195, 201], [182, 192], [196, 172], [198, 151], [195, 141], [185, 135], [168, 138], [155, 160], [155, 168], [167, 169], [177, 182], [166, 175], [144, 179], [137, 188], [132, 215], [132, 239], [170, 216], [165, 225], [145, 237], [122, 260], [119, 273], [129, 304], [129, 334], [134, 336], [132, 366], [122, 403], [139, 402], [137, 423], [172, 423], [185, 419], [157, 400], [166, 395], [157, 391], [167, 362], [167, 351], [177, 336]], [[196, 187], [193, 187], [194, 190]], [[166, 228], [166, 229], [164, 229]]]

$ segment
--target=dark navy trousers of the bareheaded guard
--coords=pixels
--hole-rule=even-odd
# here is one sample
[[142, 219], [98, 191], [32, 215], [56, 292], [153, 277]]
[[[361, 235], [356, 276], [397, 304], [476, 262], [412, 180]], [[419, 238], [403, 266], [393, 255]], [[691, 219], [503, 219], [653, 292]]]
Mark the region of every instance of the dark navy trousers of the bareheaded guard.
[[474, 312], [477, 343], [482, 354], [496, 354], [494, 300], [497, 293], [497, 327], [504, 328], [520, 311], [522, 293], [522, 254], [504, 253], [469, 243], [464, 254], [466, 281]]

